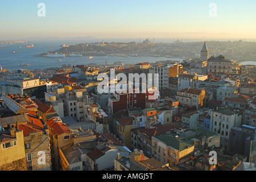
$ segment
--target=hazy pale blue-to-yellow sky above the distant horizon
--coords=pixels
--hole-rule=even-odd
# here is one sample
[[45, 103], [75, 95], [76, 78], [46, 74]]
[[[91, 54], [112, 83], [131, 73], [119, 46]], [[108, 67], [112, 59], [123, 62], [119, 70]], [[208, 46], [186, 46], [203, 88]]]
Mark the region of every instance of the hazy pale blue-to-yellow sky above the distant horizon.
[[[46, 16], [38, 16], [45, 3]], [[217, 16], [210, 16], [217, 6]], [[0, 40], [97, 38], [253, 38], [255, 0], [0, 1]]]

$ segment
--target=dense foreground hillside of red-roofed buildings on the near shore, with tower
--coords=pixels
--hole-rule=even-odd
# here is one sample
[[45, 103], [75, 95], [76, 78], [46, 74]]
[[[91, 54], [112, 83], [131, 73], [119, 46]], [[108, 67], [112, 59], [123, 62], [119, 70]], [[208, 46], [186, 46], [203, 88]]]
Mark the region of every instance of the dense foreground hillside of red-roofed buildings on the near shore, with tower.
[[[0, 170], [255, 171], [256, 67], [211, 46], [182, 63], [1, 70]], [[102, 93], [113, 70], [158, 86], [111, 92], [109, 77]]]

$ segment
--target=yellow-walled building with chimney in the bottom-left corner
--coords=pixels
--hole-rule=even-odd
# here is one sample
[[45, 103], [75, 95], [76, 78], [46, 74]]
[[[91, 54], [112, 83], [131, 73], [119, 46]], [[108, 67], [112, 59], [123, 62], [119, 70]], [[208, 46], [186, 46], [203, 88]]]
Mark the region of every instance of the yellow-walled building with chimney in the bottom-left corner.
[[0, 171], [26, 171], [23, 131], [11, 130], [11, 134], [0, 134]]

